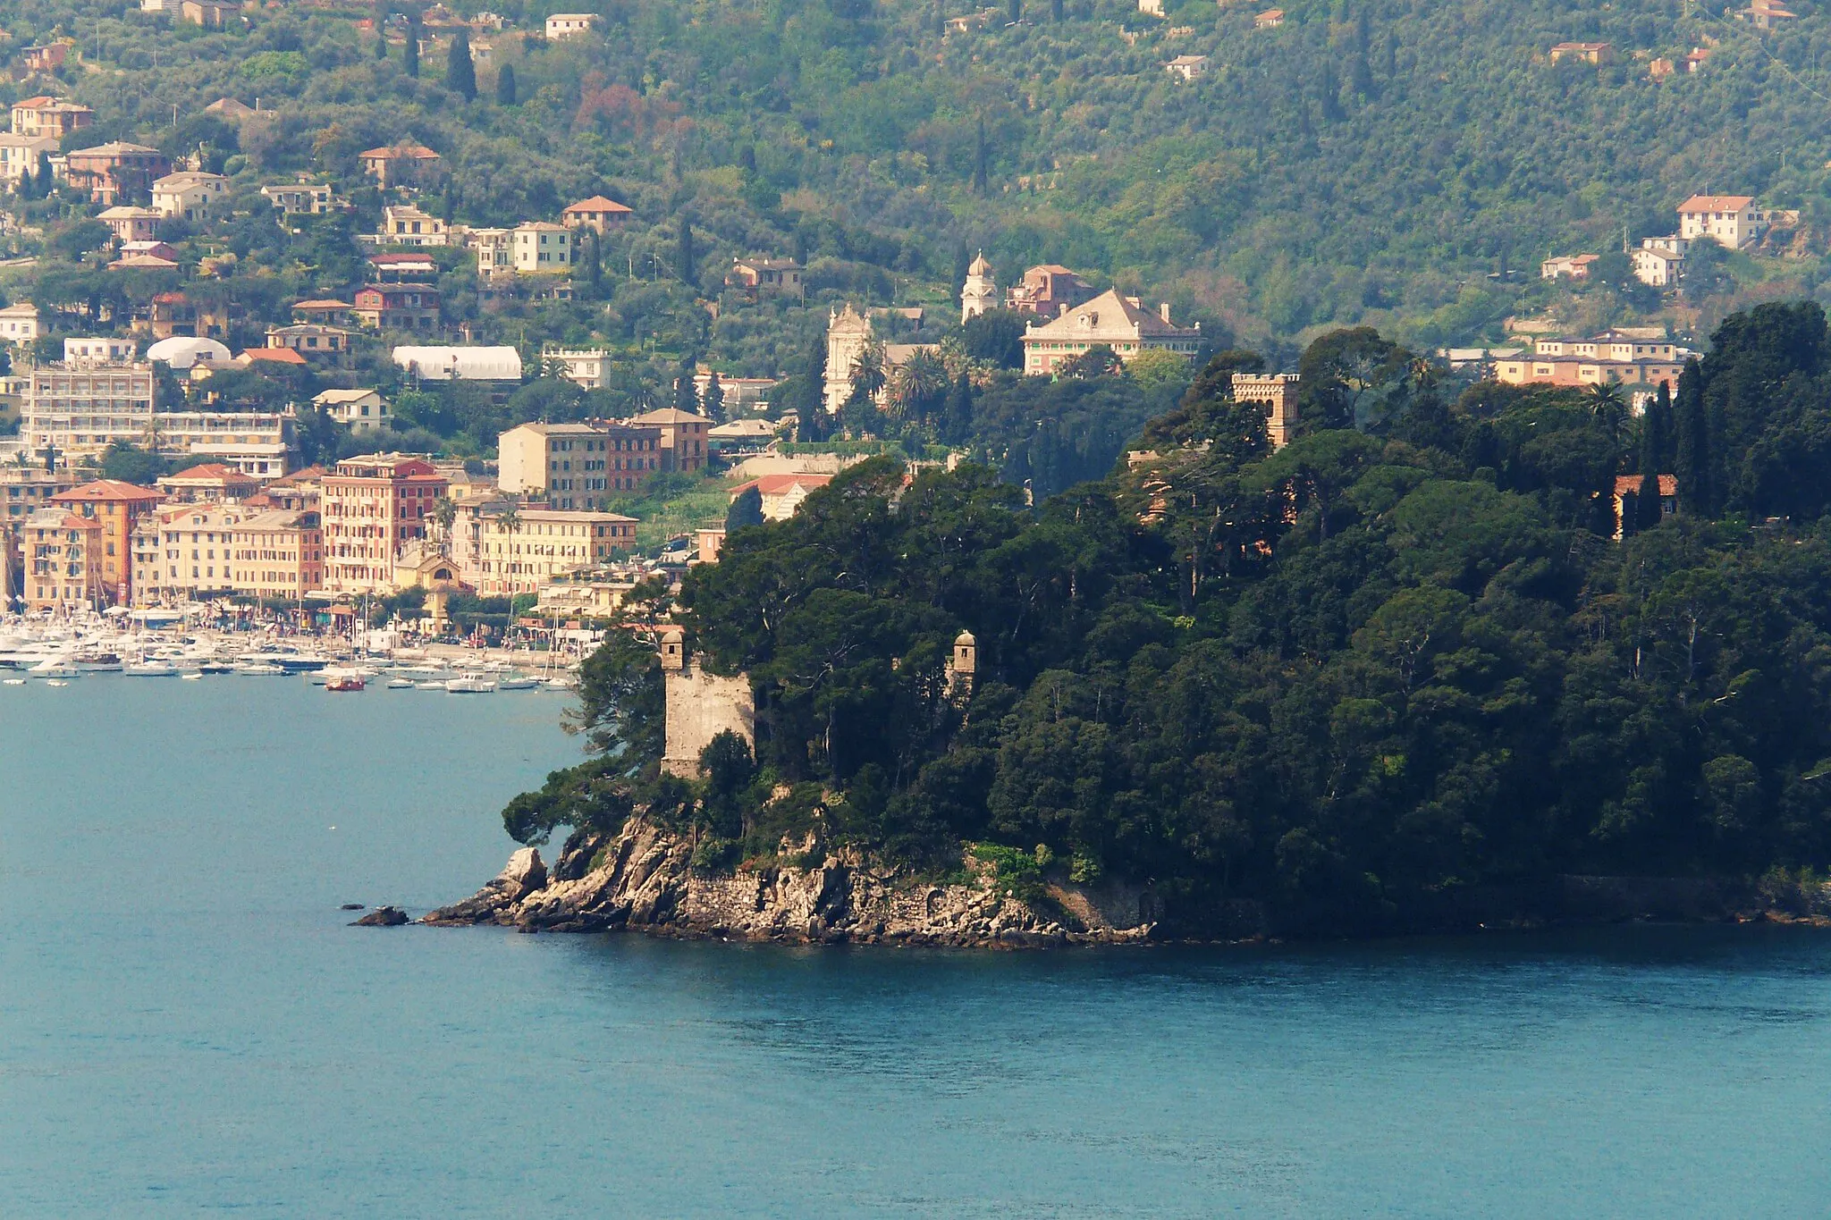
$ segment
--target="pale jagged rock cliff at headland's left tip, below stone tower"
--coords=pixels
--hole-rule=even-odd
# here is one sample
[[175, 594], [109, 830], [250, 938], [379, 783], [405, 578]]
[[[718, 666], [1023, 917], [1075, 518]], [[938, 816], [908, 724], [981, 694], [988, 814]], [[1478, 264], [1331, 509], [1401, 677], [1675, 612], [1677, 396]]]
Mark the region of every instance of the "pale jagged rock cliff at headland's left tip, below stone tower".
[[780, 860], [804, 863], [703, 874], [690, 840], [632, 818], [615, 834], [575, 834], [551, 871], [524, 847], [472, 898], [421, 922], [961, 947], [1135, 944], [1155, 926], [1154, 896], [1126, 885], [1047, 885], [1024, 902], [991, 871], [934, 885], [813, 838], [784, 843]]

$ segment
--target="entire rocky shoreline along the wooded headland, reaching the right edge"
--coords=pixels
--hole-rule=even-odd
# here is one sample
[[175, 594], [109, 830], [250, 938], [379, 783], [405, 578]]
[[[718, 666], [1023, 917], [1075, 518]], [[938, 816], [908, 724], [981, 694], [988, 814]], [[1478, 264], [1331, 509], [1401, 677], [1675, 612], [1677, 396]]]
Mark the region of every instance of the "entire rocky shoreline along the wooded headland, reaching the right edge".
[[[1024, 896], [967, 860], [967, 880], [932, 883], [815, 838], [782, 843], [775, 863], [709, 874], [694, 843], [648, 819], [573, 834], [553, 865], [516, 851], [471, 898], [427, 913], [436, 927], [493, 924], [527, 933], [643, 931], [776, 944], [892, 944], [981, 949], [1122, 946], [1163, 938], [1148, 887], [1033, 883]], [[392, 909], [390, 909], [392, 911]], [[359, 924], [394, 926], [401, 915]], [[1545, 885], [1441, 894], [1403, 926], [1359, 935], [1534, 929], [1571, 924], [1811, 924], [1831, 927], [1831, 885], [1723, 878], [1560, 876]], [[1273, 940], [1258, 904], [1210, 911], [1205, 940]], [[1302, 935], [1302, 933], [1298, 933]], [[1311, 933], [1315, 935], [1315, 933]], [[1186, 940], [1177, 929], [1170, 938]]]

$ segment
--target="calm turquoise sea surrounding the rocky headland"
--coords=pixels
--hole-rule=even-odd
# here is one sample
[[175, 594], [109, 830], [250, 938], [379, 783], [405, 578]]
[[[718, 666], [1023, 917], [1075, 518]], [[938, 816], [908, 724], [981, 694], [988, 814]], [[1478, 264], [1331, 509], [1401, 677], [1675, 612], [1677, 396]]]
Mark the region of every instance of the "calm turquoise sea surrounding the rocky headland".
[[0, 1216], [1818, 1216], [1831, 936], [1051, 955], [419, 913], [562, 701], [0, 688]]

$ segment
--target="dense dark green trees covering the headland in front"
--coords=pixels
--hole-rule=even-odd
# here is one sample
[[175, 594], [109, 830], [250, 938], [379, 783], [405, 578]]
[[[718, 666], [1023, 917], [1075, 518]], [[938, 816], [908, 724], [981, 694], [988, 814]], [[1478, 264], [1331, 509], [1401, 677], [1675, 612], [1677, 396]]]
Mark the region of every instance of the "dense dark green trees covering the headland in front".
[[[981, 843], [1150, 880], [1192, 929], [1232, 898], [1375, 929], [1558, 872], [1831, 865], [1824, 313], [1732, 316], [1641, 419], [1608, 391], [1445, 401], [1406, 357], [1315, 344], [1273, 452], [1227, 395], [1252, 357], [1221, 353], [1146, 430], [1159, 461], [1035, 510], [985, 468], [848, 470], [679, 594], [754, 684], [754, 759], [721, 739], [696, 785], [657, 777], [657, 662], [619, 631], [582, 691], [604, 754], [505, 823], [646, 801], [729, 865], [818, 816], [936, 872]], [[1637, 468], [1677, 474], [1677, 514], [1628, 496], [1617, 521]]]

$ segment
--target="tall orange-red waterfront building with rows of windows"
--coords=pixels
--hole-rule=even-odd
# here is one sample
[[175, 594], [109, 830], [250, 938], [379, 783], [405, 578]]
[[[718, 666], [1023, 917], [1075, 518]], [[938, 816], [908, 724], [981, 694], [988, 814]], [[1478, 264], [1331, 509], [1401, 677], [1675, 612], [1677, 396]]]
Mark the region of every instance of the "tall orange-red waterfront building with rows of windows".
[[394, 560], [427, 536], [432, 505], [449, 487], [425, 457], [364, 454], [337, 463], [319, 490], [324, 529], [324, 587], [331, 593], [390, 593]]

